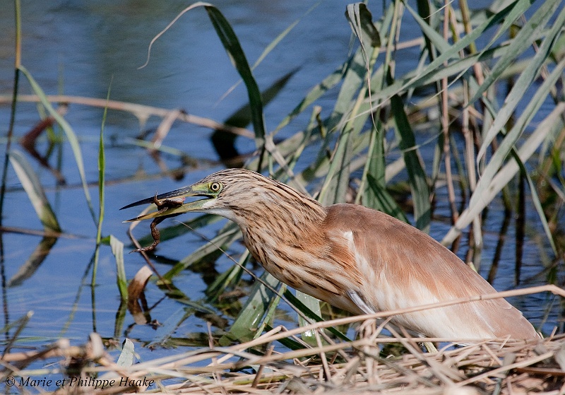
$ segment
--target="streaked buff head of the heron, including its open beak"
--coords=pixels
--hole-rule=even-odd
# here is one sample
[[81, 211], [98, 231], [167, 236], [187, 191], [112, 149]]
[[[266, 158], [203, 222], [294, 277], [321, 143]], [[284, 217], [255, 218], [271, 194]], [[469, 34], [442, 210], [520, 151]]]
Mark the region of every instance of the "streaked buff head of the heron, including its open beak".
[[[181, 198], [197, 196], [198, 199], [182, 204]], [[138, 216], [129, 221], [145, 220], [162, 216], [172, 216], [189, 212], [206, 212], [233, 220], [239, 225], [256, 222], [259, 213], [286, 211], [293, 217], [304, 213], [304, 208], [312, 206], [321, 213], [319, 204], [300, 194], [295, 189], [265, 177], [259, 173], [244, 169], [226, 169], [215, 172], [189, 187], [156, 196], [158, 201], [171, 199], [178, 204], [165, 204], [166, 209]], [[143, 199], [123, 208], [150, 204], [155, 198]], [[308, 210], [307, 210], [308, 211]], [[280, 212], [280, 217], [284, 213]], [[283, 218], [281, 218], [283, 219]], [[129, 222], [128, 221], [128, 222]], [[302, 222], [293, 218], [292, 222]]]

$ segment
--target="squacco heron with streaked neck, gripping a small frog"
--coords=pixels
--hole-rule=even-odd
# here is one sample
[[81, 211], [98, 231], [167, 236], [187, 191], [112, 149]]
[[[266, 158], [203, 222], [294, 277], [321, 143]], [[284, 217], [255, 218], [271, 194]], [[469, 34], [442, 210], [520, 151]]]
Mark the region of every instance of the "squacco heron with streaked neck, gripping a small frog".
[[[204, 199], [183, 204], [187, 196]], [[239, 225], [249, 252], [275, 278], [354, 314], [496, 293], [456, 254], [411, 225], [364, 206], [321, 206], [249, 170], [221, 170], [124, 208], [153, 202], [159, 211], [133, 220], [187, 212], [225, 217]], [[539, 337], [502, 298], [399, 314], [391, 323], [434, 338]]]

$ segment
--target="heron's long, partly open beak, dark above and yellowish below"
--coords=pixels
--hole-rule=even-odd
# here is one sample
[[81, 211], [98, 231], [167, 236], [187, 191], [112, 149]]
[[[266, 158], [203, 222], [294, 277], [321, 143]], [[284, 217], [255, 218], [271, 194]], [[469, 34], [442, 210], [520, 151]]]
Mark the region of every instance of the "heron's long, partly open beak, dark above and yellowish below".
[[[200, 199], [200, 200], [196, 200], [196, 201], [191, 201], [191, 202], [186, 203], [186, 204], [182, 204], [182, 201], [184, 201], [184, 198], [191, 197], [191, 196], [203, 196], [206, 199]], [[172, 204], [166, 204], [165, 205], [165, 207], [167, 207], [165, 210], [160, 210], [160, 211], [155, 211], [153, 213], [144, 214], [143, 216], [131, 218], [131, 220], [126, 220], [124, 222], [133, 222], [133, 221], [138, 221], [138, 220], [148, 220], [148, 219], [151, 219], [151, 218], [157, 218], [157, 217], [162, 217], [162, 216], [172, 216], [172, 215], [178, 215], [178, 214], [182, 214], [182, 213], [188, 213], [189, 211], [203, 211], [203, 208], [204, 208], [203, 205], [207, 201], [210, 201], [210, 199], [215, 199], [215, 197], [216, 197], [215, 194], [211, 194], [210, 191], [208, 190], [207, 184], [194, 184], [194, 185], [191, 185], [190, 187], [175, 189], [174, 191], [166, 192], [165, 194], [160, 194], [160, 195], [157, 195], [155, 197], [150, 197], [150, 198], [147, 198], [147, 199], [141, 199], [140, 201], [136, 201], [135, 203], [128, 204], [127, 206], [120, 208], [120, 210], [123, 210], [124, 208], [134, 207], [134, 206], [141, 206], [142, 204], [155, 203], [155, 199], [157, 199], [157, 201], [161, 201], [161, 202], [166, 200], [166, 199], [170, 199], [170, 200], [173, 201]], [[178, 201], [178, 204], [174, 204], [174, 202], [177, 202], [177, 201]]]

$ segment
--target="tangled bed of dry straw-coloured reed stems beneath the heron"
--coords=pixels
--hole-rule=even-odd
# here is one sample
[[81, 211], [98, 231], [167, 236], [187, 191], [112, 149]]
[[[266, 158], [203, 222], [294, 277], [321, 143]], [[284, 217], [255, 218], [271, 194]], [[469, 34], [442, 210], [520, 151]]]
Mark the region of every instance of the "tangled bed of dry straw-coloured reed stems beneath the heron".
[[[564, 335], [529, 343], [484, 341], [461, 347], [447, 343], [437, 353], [423, 353], [417, 342], [437, 339], [400, 337], [394, 332], [394, 338], [383, 337], [383, 324], [376, 327], [374, 319], [362, 320], [359, 318], [355, 341], [320, 342], [316, 348], [278, 352], [273, 346], [281, 338], [300, 341], [296, 337], [300, 329], [287, 331], [278, 326], [247, 343], [172, 351], [169, 357], [129, 367], [114, 363], [105, 353], [100, 336], [93, 334], [82, 347], [59, 341], [46, 350], [4, 355], [2, 381], [13, 376], [18, 383], [19, 377], [42, 378], [56, 373], [71, 377], [72, 369], [88, 384], [59, 387], [58, 393], [564, 394]], [[390, 346], [395, 343], [403, 346], [396, 350], [404, 354], [387, 357], [395, 350]], [[25, 370], [32, 362], [37, 365], [38, 360], [49, 368]], [[154, 380], [155, 385], [147, 389], [143, 379]], [[114, 385], [101, 389], [99, 384], [95, 388], [101, 380], [114, 380]], [[141, 385], [130, 387], [126, 380]]]

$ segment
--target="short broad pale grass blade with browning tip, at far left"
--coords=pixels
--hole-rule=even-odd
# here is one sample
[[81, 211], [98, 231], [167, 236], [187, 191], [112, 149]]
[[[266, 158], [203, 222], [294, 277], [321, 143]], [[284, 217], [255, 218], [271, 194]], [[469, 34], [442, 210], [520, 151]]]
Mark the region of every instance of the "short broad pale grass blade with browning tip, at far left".
[[40, 219], [45, 230], [52, 232], [61, 232], [61, 227], [57, 221], [57, 217], [53, 212], [47, 196], [43, 190], [39, 177], [31, 167], [30, 163], [20, 151], [12, 150], [10, 153], [10, 163], [16, 171], [16, 175], [20, 180], [25, 193], [31, 201], [37, 218]]

